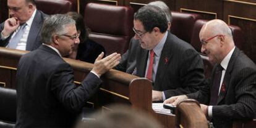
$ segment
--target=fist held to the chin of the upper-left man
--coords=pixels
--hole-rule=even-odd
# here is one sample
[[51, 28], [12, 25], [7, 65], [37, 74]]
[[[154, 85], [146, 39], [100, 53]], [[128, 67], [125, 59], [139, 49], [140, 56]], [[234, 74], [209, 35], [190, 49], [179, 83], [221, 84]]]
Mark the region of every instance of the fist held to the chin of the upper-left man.
[[2, 30], [3, 36], [9, 36], [11, 33], [13, 33], [17, 28], [20, 26], [19, 20], [17, 18], [12, 17], [8, 18], [6, 22], [4, 22], [4, 30]]

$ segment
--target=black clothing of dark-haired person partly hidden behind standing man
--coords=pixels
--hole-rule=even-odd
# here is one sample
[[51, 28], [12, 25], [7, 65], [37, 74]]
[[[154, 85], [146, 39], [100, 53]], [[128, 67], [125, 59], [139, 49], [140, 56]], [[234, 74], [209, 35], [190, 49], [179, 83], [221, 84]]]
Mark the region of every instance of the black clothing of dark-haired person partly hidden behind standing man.
[[105, 53], [105, 49], [100, 44], [97, 44], [91, 39], [79, 44], [79, 49], [77, 50], [77, 60], [82, 60], [83, 62], [94, 63], [95, 59], [101, 52]]

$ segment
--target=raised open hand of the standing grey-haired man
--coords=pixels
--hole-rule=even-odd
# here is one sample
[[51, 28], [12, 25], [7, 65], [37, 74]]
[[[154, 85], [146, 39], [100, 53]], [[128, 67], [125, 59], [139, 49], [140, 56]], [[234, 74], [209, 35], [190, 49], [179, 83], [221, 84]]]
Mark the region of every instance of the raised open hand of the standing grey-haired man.
[[114, 66], [119, 64], [119, 60], [121, 59], [121, 55], [114, 54], [108, 55], [108, 57], [103, 58], [104, 52], [96, 58], [92, 71], [101, 76], [106, 73], [106, 71], [111, 70]]

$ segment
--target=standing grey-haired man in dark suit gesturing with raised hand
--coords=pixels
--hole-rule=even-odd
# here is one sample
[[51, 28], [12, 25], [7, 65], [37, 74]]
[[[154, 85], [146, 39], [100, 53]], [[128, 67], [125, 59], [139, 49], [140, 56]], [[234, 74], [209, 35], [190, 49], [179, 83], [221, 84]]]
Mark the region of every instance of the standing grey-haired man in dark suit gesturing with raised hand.
[[17, 66], [17, 128], [71, 127], [76, 114], [99, 89], [100, 76], [119, 63], [120, 54], [96, 58], [92, 71], [74, 84], [74, 72], [61, 57], [79, 43], [75, 21], [67, 15], [45, 20], [38, 49], [20, 58]]

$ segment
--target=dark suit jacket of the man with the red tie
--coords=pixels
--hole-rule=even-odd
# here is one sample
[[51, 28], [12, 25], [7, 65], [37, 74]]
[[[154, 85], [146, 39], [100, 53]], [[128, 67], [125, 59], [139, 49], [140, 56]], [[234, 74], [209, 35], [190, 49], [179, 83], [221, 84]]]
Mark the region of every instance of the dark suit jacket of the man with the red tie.
[[[144, 77], [147, 59], [148, 50], [142, 49], [139, 41], [132, 39], [129, 50], [122, 55], [121, 63], [115, 69], [131, 73], [135, 68], [135, 75]], [[164, 91], [166, 98], [169, 98], [196, 92], [203, 85], [203, 61], [200, 55], [190, 44], [168, 33], [153, 90]]]

